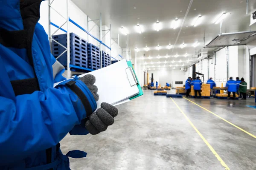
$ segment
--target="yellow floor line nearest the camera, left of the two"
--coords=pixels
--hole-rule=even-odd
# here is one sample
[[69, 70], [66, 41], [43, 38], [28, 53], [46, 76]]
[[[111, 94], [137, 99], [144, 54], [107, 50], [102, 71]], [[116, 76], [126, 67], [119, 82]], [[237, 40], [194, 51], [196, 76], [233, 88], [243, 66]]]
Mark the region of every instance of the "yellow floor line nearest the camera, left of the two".
[[[171, 97], [172, 99], [172, 97]], [[212, 153], [216, 156], [218, 161], [221, 162], [221, 165], [225, 167], [226, 170], [230, 170], [230, 168], [227, 166], [227, 164], [221, 159], [221, 157], [218, 155], [218, 153], [213, 149], [213, 147], [209, 144], [209, 142], [204, 138], [204, 136], [199, 132], [199, 130], [195, 127], [195, 125], [189, 120], [188, 116], [180, 109], [180, 107], [177, 105], [177, 103], [172, 99], [172, 101], [175, 103], [177, 108], [180, 110], [180, 112], [185, 116], [186, 120], [190, 123], [190, 125], [195, 129], [195, 131], [198, 133], [198, 135], [203, 139], [204, 143], [209, 147], [209, 149], [212, 151]]]

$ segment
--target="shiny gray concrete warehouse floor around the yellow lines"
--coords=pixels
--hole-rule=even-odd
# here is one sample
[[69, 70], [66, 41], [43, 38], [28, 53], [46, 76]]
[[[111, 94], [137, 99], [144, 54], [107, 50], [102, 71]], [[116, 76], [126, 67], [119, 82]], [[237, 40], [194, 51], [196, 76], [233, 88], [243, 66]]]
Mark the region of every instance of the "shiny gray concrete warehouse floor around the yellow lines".
[[[171, 92], [168, 92], [171, 93]], [[190, 99], [190, 98], [189, 98]], [[174, 98], [230, 170], [256, 170], [256, 139], [186, 99]], [[253, 99], [190, 99], [256, 135]], [[224, 170], [207, 144], [166, 96], [144, 96], [117, 107], [107, 131], [92, 136], [67, 135], [63, 153], [83, 150], [87, 158], [70, 158], [72, 170]]]

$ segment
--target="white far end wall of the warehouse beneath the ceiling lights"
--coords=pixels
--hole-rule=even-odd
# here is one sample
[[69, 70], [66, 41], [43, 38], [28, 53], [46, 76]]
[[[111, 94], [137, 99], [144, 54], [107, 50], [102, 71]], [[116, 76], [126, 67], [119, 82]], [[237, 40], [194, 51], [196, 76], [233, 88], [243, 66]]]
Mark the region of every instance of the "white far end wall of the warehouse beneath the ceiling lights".
[[[161, 84], [161, 86], [165, 86], [166, 82], [171, 83], [172, 87], [176, 87], [176, 86], [183, 86], [186, 82], [186, 75], [183, 71], [180, 70], [165, 70], [165, 69], [161, 69], [161, 70], [149, 70], [148, 74], [149, 77], [151, 77], [151, 74], [154, 74], [154, 80], [155, 82], [158, 82], [158, 84]], [[182, 81], [183, 84], [182, 85], [175, 85], [175, 82], [177, 81]]]

